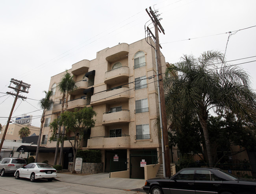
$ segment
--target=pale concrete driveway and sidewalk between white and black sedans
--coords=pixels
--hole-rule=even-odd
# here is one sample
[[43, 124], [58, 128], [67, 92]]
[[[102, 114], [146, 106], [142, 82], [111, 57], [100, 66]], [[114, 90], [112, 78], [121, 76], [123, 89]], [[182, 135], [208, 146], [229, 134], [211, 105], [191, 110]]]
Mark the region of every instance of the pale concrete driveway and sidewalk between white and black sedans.
[[135, 190], [144, 192], [144, 179], [109, 178], [109, 173], [80, 175], [57, 173], [55, 178], [66, 183], [76, 183], [80, 185], [90, 185], [95, 187], [117, 188], [122, 190]]

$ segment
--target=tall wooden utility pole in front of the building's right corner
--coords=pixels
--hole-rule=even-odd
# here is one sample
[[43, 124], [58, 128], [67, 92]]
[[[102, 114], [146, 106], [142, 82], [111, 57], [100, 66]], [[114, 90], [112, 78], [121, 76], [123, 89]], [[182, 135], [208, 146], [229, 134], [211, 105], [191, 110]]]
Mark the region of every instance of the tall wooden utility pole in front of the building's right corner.
[[[165, 96], [163, 91], [163, 73], [162, 73], [162, 65], [161, 65], [161, 57], [160, 57], [160, 43], [159, 43], [159, 35], [158, 31], [162, 31], [163, 34], [164, 30], [161, 26], [158, 16], [156, 13], [149, 7], [150, 11], [146, 9], [149, 17], [151, 18], [154, 26], [155, 26], [155, 36], [152, 34], [156, 41], [156, 55], [157, 55], [157, 65], [158, 65], [158, 76], [159, 76], [159, 87], [160, 87], [160, 100], [161, 100], [161, 122], [163, 127], [163, 146], [164, 146], [164, 158], [165, 161], [165, 176], [171, 176], [171, 160], [170, 160], [170, 151], [169, 151], [169, 140], [168, 140], [168, 131], [167, 131], [167, 118], [166, 118], [166, 109], [165, 109]], [[151, 33], [151, 31], [150, 31]]]

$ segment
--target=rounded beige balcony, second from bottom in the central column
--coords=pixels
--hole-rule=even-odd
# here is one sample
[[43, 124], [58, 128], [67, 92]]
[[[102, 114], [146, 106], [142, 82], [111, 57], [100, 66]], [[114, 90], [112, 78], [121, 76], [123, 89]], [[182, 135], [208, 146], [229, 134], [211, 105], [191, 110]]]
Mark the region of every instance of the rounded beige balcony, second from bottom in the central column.
[[117, 112], [103, 113], [102, 125], [122, 124], [130, 122], [130, 111], [120, 110]]

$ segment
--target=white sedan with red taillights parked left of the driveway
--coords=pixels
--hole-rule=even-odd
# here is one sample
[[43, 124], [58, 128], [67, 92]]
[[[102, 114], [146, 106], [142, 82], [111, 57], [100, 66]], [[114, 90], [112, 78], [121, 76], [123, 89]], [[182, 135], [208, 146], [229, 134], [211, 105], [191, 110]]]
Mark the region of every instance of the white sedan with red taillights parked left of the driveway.
[[27, 178], [31, 182], [34, 182], [35, 179], [47, 179], [52, 181], [57, 177], [56, 169], [52, 168], [49, 164], [45, 163], [30, 163], [23, 168], [16, 170], [14, 176], [15, 179]]

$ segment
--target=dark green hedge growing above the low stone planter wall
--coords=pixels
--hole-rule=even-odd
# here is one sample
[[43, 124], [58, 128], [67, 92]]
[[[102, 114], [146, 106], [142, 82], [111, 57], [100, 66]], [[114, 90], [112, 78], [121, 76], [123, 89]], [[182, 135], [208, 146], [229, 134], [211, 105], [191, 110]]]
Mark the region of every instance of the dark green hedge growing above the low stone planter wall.
[[100, 150], [78, 150], [77, 158], [82, 158], [83, 163], [101, 163]]

